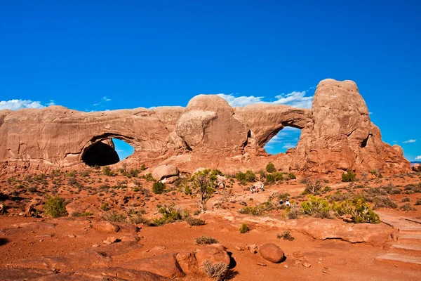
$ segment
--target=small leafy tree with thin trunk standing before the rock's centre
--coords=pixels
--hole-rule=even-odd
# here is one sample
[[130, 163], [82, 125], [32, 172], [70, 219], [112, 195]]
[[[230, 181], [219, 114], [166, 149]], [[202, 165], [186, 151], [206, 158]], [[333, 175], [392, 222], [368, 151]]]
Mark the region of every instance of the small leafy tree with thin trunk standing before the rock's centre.
[[197, 203], [201, 211], [206, 211], [206, 202], [208, 202], [213, 192], [215, 192], [217, 186], [216, 177], [220, 174], [222, 173], [218, 170], [206, 169], [194, 173], [192, 178], [190, 178], [192, 190], [199, 197]]

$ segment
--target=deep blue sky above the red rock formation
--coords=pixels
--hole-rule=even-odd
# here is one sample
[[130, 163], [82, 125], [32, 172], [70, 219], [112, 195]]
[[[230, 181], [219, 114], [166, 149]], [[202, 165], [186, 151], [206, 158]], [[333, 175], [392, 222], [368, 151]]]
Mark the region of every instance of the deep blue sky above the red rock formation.
[[419, 2], [1, 1], [0, 108], [305, 105], [350, 79], [383, 140], [421, 159]]

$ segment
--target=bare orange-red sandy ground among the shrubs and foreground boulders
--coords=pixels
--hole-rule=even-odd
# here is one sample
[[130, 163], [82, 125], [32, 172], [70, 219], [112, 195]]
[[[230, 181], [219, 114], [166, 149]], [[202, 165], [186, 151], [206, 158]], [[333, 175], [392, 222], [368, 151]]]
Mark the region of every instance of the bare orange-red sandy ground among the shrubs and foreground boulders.
[[[140, 192], [135, 192], [131, 189], [130, 184], [128, 190], [117, 189], [114, 190], [115, 195], [112, 195], [111, 190], [103, 190], [97, 192], [98, 188], [105, 181], [109, 185], [114, 185], [117, 181], [128, 181], [124, 176], [103, 176], [99, 171], [91, 172], [88, 177], [76, 176], [76, 180], [82, 184], [81, 191], [77, 188], [69, 187], [67, 177], [65, 175], [54, 178], [47, 178], [44, 183], [19, 183], [17, 181], [2, 181], [0, 190], [4, 194], [9, 194], [12, 190], [20, 190], [19, 196], [24, 197], [29, 202], [33, 197], [45, 197], [51, 194], [53, 190], [57, 194], [65, 197], [66, 200], [72, 199], [76, 202], [86, 202], [94, 206], [94, 216], [89, 217], [62, 217], [62, 218], [25, 218], [17, 216], [23, 211], [24, 202], [15, 202], [6, 200], [5, 204], [9, 207], [9, 216], [0, 216], [0, 267], [7, 267], [8, 264], [13, 264], [14, 261], [36, 256], [61, 256], [71, 252], [92, 247], [93, 244], [102, 244], [103, 240], [111, 236], [107, 233], [99, 233], [93, 231], [90, 225], [95, 221], [100, 221], [100, 205], [103, 202], [109, 202], [110, 207], [114, 210], [123, 210], [127, 207], [135, 209], [145, 209], [147, 214], [145, 216], [159, 216], [156, 211], [156, 204], [163, 204], [165, 202], [174, 202], [177, 207], [187, 209], [193, 213], [197, 209], [195, 198], [182, 195], [180, 192], [168, 192], [166, 195], [153, 195], [147, 197], [140, 195]], [[25, 178], [25, 176], [22, 176]], [[99, 179], [102, 183], [98, 183]], [[380, 186], [392, 183], [397, 187], [403, 187], [409, 183], [420, 182], [421, 176], [419, 174], [410, 174], [407, 176], [394, 176], [391, 178], [373, 179], [354, 183], [354, 185], [366, 184], [368, 186]], [[62, 181], [63, 185], [57, 185]], [[83, 183], [86, 181], [86, 183]], [[138, 180], [139, 181], [139, 180]], [[54, 182], [54, 183], [53, 183]], [[152, 190], [152, 182], [140, 180], [142, 186], [146, 189]], [[24, 187], [18, 187], [22, 184]], [[40, 193], [36, 195], [32, 192], [22, 192], [28, 186], [36, 185]], [[92, 193], [89, 193], [86, 186], [91, 186]], [[330, 183], [326, 183], [335, 190], [347, 187], [348, 183], [340, 183], [330, 179]], [[54, 188], [53, 186], [56, 186]], [[272, 186], [267, 186], [265, 192], [260, 192], [251, 195], [250, 192], [244, 191], [238, 184], [234, 184], [232, 188], [232, 195], [229, 196], [228, 202], [220, 204], [220, 209], [229, 210], [233, 214], [241, 207], [239, 202], [244, 200], [248, 204], [256, 204], [258, 202], [265, 202], [267, 197], [274, 192], [289, 192], [291, 197], [299, 195], [305, 188], [305, 184], [300, 183], [299, 180], [283, 182]], [[71, 193], [73, 192], [73, 194]], [[97, 192], [96, 194], [93, 194]], [[93, 194], [93, 195], [92, 195]], [[103, 194], [103, 195], [100, 195]], [[133, 198], [124, 200], [124, 196]], [[208, 209], [212, 209], [215, 202], [220, 200], [222, 195], [215, 195], [208, 202]], [[421, 199], [421, 193], [411, 195], [392, 195], [391, 196], [399, 206], [403, 197], [410, 197], [410, 204], [414, 204], [415, 200]], [[253, 201], [250, 201], [253, 198]], [[126, 203], [124, 203], [127, 201]], [[232, 203], [234, 202], [234, 203]], [[38, 207], [41, 209], [41, 206]], [[215, 210], [216, 208], [214, 208]], [[417, 207], [417, 211], [399, 211], [397, 209], [385, 209], [387, 214], [394, 216], [410, 216], [421, 217], [421, 206]], [[276, 211], [269, 216], [276, 218], [283, 218], [283, 211]], [[410, 266], [403, 263], [383, 263], [375, 261], [375, 257], [385, 254], [387, 251], [382, 247], [373, 247], [368, 244], [351, 244], [340, 240], [314, 240], [311, 237], [302, 235], [292, 231], [291, 234], [295, 237], [293, 241], [279, 240], [276, 238], [278, 233], [282, 233], [282, 226], [279, 228], [269, 228], [265, 224], [253, 225], [250, 233], [241, 234], [239, 228], [231, 222], [212, 216], [206, 217], [205, 226], [189, 226], [186, 222], [170, 223], [165, 226], [149, 227], [140, 226], [141, 229], [138, 235], [141, 237], [140, 243], [144, 246], [140, 249], [129, 251], [126, 254], [115, 256], [113, 258], [113, 266], [119, 266], [121, 263], [131, 261], [133, 259], [140, 259], [147, 256], [154, 256], [156, 254], [163, 254], [166, 252], [178, 252], [183, 249], [197, 249], [194, 244], [194, 238], [201, 235], [208, 235], [216, 238], [225, 247], [227, 251], [232, 253], [232, 258], [235, 260], [235, 266], [232, 268], [236, 273], [232, 280], [281, 280], [284, 278], [292, 280], [420, 280], [421, 266]], [[273, 242], [286, 254], [286, 261], [279, 264], [273, 264], [262, 259], [260, 254], [251, 254], [250, 251], [239, 251], [238, 246], [250, 244], [265, 244]], [[154, 249], [156, 246], [163, 246], [165, 248]], [[301, 252], [305, 259], [311, 264], [310, 268], [302, 266], [299, 259], [295, 259], [293, 253]], [[295, 264], [297, 261], [297, 264]], [[257, 263], [262, 262], [267, 266], [259, 266]], [[288, 268], [286, 267], [288, 266]], [[323, 273], [325, 271], [326, 273]], [[189, 276], [182, 278], [182, 280], [198, 280], [197, 276]], [[1, 279], [0, 276], [0, 280]]]

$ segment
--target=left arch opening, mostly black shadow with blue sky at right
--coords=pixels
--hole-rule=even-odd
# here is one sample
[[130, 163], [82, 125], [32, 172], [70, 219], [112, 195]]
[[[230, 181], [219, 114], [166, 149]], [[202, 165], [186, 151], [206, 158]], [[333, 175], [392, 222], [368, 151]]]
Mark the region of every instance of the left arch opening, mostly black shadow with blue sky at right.
[[83, 152], [82, 162], [88, 166], [116, 164], [132, 155], [134, 148], [118, 138], [105, 138], [89, 145]]

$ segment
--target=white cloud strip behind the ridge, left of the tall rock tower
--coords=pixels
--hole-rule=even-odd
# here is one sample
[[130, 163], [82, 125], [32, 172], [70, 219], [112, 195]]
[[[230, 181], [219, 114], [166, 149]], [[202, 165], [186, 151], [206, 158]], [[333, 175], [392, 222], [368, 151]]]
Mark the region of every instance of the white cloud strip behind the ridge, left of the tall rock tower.
[[305, 96], [306, 93], [314, 89], [311, 87], [306, 91], [293, 91], [291, 93], [281, 93], [281, 95], [276, 96], [276, 100], [268, 101], [264, 100], [264, 96], [234, 96], [232, 93], [227, 95], [225, 93], [220, 93], [218, 96], [227, 100], [229, 105], [232, 107], [236, 106], [246, 106], [253, 105], [255, 103], [268, 103], [274, 105], [289, 105], [292, 107], [301, 107], [301, 108], [311, 108], [313, 103], [313, 96]]

